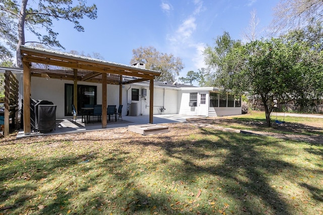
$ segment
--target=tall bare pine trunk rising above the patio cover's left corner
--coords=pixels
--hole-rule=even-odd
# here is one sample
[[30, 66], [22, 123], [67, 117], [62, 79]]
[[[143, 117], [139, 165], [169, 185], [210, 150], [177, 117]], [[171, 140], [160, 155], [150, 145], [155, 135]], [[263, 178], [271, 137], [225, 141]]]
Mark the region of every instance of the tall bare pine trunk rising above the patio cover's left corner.
[[25, 20], [26, 20], [26, 7], [27, 7], [28, 0], [21, 1], [21, 9], [18, 18], [18, 43], [16, 49], [16, 56], [17, 56], [17, 66], [23, 67], [22, 64], [22, 55], [20, 52], [20, 45], [25, 45]]

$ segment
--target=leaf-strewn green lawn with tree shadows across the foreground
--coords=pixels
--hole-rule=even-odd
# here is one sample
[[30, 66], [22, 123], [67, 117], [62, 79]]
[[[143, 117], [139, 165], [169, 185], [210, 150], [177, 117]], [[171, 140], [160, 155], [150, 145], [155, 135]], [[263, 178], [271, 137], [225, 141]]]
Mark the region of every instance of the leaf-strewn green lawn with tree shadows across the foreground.
[[1, 139], [0, 214], [323, 213], [323, 145], [168, 125]]

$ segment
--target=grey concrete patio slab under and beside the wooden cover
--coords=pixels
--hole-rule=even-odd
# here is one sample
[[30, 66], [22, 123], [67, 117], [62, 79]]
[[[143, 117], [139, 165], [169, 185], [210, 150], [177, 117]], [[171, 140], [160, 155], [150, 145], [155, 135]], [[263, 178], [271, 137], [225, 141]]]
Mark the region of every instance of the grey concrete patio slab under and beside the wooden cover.
[[[185, 122], [187, 118], [196, 118], [200, 116], [183, 115], [183, 114], [162, 114], [153, 115], [153, 124], [163, 124], [163, 123], [177, 123]], [[122, 116], [122, 120], [117, 119], [117, 121], [111, 120], [107, 121], [106, 128], [102, 128], [101, 122], [82, 122], [79, 116], [75, 123], [72, 122], [72, 118], [56, 119], [56, 129], [50, 132], [32, 132], [29, 135], [25, 135], [24, 131], [21, 129], [17, 138], [34, 136], [34, 135], [52, 135], [52, 134], [64, 134], [64, 133], [74, 133], [74, 132], [85, 132], [93, 130], [104, 130], [128, 127], [129, 125], [139, 125], [149, 123], [149, 115], [146, 116]]]

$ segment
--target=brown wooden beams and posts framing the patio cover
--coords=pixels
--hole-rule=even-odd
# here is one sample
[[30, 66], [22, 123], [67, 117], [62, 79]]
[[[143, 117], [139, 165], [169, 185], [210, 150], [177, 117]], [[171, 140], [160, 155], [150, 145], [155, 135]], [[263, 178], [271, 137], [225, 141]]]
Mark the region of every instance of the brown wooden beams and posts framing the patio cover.
[[[153, 122], [153, 80], [155, 76], [160, 76], [158, 71], [153, 71], [149, 69], [136, 68], [134, 66], [127, 66], [118, 63], [112, 63], [109, 61], [103, 61], [98, 59], [86, 58], [83, 56], [77, 56], [73, 54], [46, 50], [42, 48], [29, 47], [29, 46], [20, 46], [23, 66], [24, 66], [24, 132], [25, 134], [31, 133], [30, 126], [30, 87], [31, 87], [31, 70], [30, 62], [33, 63], [42, 63], [46, 65], [62, 66], [74, 69], [73, 76], [63, 77], [62, 74], [50, 74], [46, 72], [50, 78], [65, 79], [74, 81], [74, 88], [77, 86], [78, 81], [90, 82], [97, 79], [101, 75], [102, 80], [102, 128], [106, 126], [106, 85], [109, 83], [107, 81], [106, 74], [119, 75], [119, 80], [112, 81], [110, 83], [119, 84], [120, 92], [122, 92], [122, 76], [131, 76], [139, 78], [140, 81], [149, 82], [150, 90], [150, 108], [149, 108], [149, 123]], [[80, 70], [89, 70], [90, 73], [87, 74], [84, 78], [78, 76], [78, 71]], [[44, 74], [44, 73], [43, 73]], [[83, 74], [83, 73], [82, 73]], [[40, 76], [34, 75], [34, 76]], [[47, 77], [47, 76], [46, 76]], [[95, 78], [95, 79], [94, 79]], [[136, 83], [140, 81], [133, 81], [130, 83]], [[99, 82], [99, 79], [98, 81]], [[75, 89], [74, 89], [75, 90]], [[75, 99], [75, 98], [74, 98]], [[74, 100], [75, 102], [75, 100]], [[122, 103], [122, 93], [120, 93], [119, 103]]]

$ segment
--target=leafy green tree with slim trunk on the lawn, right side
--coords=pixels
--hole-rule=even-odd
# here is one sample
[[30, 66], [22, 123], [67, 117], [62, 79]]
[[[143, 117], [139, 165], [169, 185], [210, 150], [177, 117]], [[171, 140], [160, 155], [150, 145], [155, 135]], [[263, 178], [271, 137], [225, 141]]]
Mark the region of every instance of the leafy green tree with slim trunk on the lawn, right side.
[[[206, 59], [217, 56], [216, 51], [204, 54]], [[261, 98], [268, 126], [271, 126], [274, 100], [286, 103], [319, 97], [323, 80], [320, 62], [322, 53], [311, 49], [307, 43], [274, 38], [235, 46], [225, 52], [220, 61], [206, 60], [207, 65], [216, 68], [214, 79], [218, 87], [235, 93], [249, 92]]]

